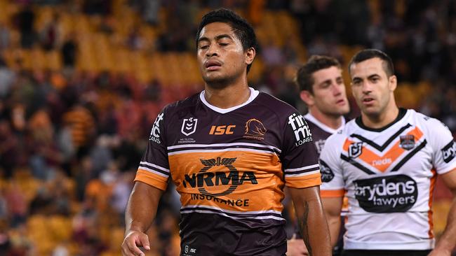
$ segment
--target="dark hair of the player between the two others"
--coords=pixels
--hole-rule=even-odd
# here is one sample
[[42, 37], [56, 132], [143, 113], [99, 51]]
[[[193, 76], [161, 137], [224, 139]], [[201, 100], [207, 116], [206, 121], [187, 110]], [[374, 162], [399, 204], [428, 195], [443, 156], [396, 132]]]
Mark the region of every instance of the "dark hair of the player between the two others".
[[312, 55], [306, 64], [302, 65], [297, 71], [296, 83], [300, 91], [309, 91], [314, 93], [312, 85], [314, 85], [314, 77], [312, 76], [316, 71], [321, 69], [328, 69], [331, 66], [337, 66], [340, 69], [340, 62], [333, 57]]

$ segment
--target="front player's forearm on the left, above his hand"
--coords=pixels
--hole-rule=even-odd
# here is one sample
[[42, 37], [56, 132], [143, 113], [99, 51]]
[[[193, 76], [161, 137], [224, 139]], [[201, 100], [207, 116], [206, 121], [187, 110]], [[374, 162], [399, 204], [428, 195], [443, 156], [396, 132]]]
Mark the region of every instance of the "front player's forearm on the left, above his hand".
[[145, 183], [136, 183], [128, 199], [125, 213], [126, 232], [131, 230], [146, 232], [152, 225], [161, 190]]

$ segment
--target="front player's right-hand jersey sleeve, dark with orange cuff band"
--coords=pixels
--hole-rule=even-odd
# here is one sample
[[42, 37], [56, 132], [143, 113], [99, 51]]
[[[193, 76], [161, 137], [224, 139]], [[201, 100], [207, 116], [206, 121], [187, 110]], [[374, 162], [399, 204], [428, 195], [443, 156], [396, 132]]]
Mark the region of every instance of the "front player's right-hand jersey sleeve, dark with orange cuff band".
[[281, 160], [286, 186], [304, 188], [320, 185], [318, 155], [307, 122], [295, 112], [288, 116], [285, 125]]

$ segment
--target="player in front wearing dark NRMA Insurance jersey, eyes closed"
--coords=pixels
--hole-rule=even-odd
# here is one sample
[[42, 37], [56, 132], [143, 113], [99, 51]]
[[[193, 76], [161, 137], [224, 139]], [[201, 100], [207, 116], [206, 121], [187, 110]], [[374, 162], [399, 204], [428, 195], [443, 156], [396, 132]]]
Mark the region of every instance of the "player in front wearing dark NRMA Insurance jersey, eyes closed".
[[293, 107], [248, 87], [253, 28], [231, 10], [213, 10], [196, 44], [205, 90], [154, 122], [126, 210], [123, 255], [149, 250], [145, 232], [169, 179], [182, 203], [181, 255], [285, 255], [284, 187], [311, 254], [330, 255], [309, 127]]

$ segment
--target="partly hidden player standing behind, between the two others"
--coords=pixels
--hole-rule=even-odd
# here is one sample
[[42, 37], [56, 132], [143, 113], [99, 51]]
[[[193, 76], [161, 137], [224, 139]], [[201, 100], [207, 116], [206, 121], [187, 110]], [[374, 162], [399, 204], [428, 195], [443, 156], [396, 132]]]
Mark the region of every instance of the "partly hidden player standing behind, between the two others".
[[[312, 55], [297, 71], [296, 83], [300, 89], [300, 97], [309, 111], [304, 118], [309, 124], [313, 143], [320, 154], [326, 138], [344, 127], [344, 115], [350, 111], [340, 63], [333, 57]], [[321, 175], [323, 183], [326, 182], [326, 173]], [[330, 227], [335, 226], [330, 225]], [[299, 237], [298, 235], [297, 233], [295, 237]], [[337, 237], [331, 239], [337, 239]], [[340, 248], [342, 248], [342, 239], [339, 239], [333, 251], [334, 256], [340, 255]], [[288, 240], [287, 255], [306, 254], [307, 250], [301, 239]]]

